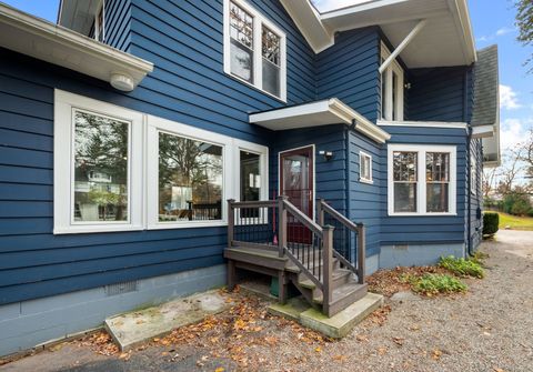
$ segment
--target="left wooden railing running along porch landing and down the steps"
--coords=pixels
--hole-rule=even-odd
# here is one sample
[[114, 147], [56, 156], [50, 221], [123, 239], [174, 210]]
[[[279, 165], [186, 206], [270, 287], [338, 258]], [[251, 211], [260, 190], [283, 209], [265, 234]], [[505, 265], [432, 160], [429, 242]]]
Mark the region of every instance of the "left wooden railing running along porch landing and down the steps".
[[[247, 218], [255, 209], [257, 218]], [[228, 201], [228, 245], [276, 250], [288, 257], [322, 291], [323, 310], [332, 300], [333, 231], [294, 207], [288, 197], [268, 201]], [[244, 215], [244, 217], [243, 217]], [[292, 234], [300, 229], [303, 233]]]

